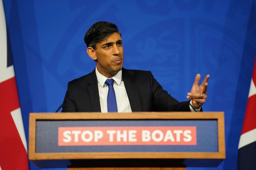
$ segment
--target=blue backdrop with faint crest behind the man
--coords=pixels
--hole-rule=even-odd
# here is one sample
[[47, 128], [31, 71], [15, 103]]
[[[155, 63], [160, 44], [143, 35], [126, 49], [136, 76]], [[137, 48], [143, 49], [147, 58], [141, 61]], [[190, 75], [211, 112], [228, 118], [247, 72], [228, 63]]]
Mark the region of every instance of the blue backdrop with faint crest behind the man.
[[27, 141], [29, 113], [54, 112], [68, 81], [95, 68], [84, 34], [109, 21], [122, 32], [124, 67], [151, 70], [177, 100], [186, 100], [197, 73], [210, 74], [203, 109], [225, 112], [226, 159], [187, 169], [236, 169], [256, 54], [255, 0], [3, 2]]

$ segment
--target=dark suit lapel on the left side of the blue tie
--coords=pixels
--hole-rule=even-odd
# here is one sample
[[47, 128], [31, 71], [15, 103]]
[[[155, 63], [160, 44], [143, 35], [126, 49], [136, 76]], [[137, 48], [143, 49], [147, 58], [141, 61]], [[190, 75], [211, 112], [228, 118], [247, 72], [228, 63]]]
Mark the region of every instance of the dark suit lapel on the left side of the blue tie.
[[101, 112], [100, 97], [98, 94], [98, 81], [97, 81], [95, 69], [91, 72], [87, 88], [88, 88], [88, 94], [90, 97], [92, 112]]

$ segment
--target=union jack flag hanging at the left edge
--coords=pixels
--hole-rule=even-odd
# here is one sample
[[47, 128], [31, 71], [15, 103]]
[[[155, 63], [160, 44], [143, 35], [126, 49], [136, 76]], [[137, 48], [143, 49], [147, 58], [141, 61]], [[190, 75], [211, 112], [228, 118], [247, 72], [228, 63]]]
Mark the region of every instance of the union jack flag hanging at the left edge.
[[0, 0], [0, 170], [28, 170], [27, 142], [7, 41], [4, 7]]

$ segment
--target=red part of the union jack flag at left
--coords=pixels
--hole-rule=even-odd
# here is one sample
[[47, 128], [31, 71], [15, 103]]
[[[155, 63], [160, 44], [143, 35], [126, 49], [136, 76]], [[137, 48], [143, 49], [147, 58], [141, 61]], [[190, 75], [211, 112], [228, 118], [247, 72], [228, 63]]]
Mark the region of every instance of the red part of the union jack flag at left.
[[0, 83], [0, 165], [2, 170], [28, 170], [27, 152], [11, 116], [20, 107], [15, 77]]

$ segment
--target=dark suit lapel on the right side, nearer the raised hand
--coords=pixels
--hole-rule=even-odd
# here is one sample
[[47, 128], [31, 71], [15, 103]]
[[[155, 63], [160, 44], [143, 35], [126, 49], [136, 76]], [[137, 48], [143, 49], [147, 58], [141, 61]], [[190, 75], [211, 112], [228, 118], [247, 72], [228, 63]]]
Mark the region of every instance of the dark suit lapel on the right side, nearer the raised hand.
[[122, 78], [132, 112], [141, 112], [140, 98], [137, 86], [133, 82], [133, 77], [127, 72], [125, 68], [122, 69]]

